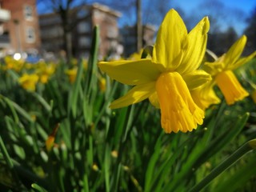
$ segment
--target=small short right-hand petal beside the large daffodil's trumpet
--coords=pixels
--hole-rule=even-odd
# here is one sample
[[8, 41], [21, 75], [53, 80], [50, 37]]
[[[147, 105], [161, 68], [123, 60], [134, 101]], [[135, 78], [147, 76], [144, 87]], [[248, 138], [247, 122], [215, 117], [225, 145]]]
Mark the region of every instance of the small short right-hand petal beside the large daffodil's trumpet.
[[194, 70], [190, 72], [190, 74], [183, 75], [182, 78], [186, 82], [189, 90], [193, 90], [198, 86], [202, 86], [211, 80], [210, 74], [207, 74], [204, 70]]

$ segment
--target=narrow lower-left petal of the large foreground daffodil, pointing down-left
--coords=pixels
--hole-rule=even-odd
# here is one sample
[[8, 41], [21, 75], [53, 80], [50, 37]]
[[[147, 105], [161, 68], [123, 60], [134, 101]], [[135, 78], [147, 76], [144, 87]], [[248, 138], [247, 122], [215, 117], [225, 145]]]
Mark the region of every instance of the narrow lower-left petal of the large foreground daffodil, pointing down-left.
[[149, 98], [151, 94], [154, 94], [155, 82], [149, 82], [143, 85], [134, 86], [128, 91], [122, 98], [118, 98], [110, 104], [111, 109], [117, 109], [124, 106], [130, 106], [131, 104], [141, 102], [146, 98]]

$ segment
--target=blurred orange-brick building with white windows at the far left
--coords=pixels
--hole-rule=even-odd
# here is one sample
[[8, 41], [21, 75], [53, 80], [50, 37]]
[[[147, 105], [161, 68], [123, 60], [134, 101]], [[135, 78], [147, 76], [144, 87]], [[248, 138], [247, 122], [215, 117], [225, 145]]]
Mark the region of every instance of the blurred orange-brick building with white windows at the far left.
[[0, 0], [1, 7], [10, 10], [10, 21], [4, 23], [4, 34], [9, 36], [10, 53], [33, 52], [40, 48], [36, 0]]

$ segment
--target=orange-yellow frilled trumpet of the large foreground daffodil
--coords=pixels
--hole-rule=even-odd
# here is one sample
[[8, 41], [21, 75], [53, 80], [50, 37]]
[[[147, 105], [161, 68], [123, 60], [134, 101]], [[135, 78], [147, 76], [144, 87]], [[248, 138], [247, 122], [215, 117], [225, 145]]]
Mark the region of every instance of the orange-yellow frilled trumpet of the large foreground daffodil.
[[166, 133], [191, 131], [197, 124], [202, 124], [204, 114], [195, 105], [180, 74], [162, 73], [156, 82], [156, 90], [162, 112], [161, 123]]

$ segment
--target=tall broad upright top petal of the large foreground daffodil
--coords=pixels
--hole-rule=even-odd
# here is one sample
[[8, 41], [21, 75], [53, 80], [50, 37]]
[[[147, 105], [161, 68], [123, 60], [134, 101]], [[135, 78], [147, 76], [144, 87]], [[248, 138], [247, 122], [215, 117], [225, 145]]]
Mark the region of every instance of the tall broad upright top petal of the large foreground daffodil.
[[173, 61], [180, 57], [182, 42], [186, 35], [187, 30], [182, 18], [175, 10], [170, 10], [159, 27], [152, 61], [175, 70], [179, 63]]

